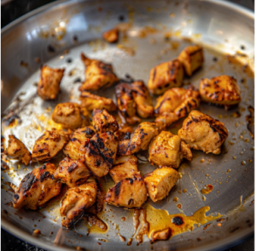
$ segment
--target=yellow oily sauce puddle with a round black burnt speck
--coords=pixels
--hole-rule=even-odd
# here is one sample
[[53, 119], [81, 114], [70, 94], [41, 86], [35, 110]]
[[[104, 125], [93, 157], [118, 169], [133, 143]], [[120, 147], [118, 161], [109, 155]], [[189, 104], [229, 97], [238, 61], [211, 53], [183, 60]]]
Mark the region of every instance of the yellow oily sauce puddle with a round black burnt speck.
[[[195, 225], [205, 225], [209, 221], [222, 217], [221, 214], [206, 215], [209, 210], [210, 208], [206, 206], [198, 209], [193, 215], [186, 216], [185, 214], [168, 214], [166, 210], [156, 209], [151, 205], [147, 205], [148, 238], [151, 242], [160, 239], [164, 240], [161, 237], [168, 239], [186, 231], [193, 231]], [[158, 232], [160, 234], [157, 235]]]

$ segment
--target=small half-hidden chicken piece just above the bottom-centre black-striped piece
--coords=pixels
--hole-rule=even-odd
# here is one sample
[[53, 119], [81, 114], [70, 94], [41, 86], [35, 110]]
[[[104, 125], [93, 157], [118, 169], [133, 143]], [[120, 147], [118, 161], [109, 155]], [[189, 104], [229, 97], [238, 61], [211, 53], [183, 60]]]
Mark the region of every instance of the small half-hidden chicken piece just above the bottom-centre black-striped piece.
[[140, 174], [137, 169], [137, 157], [134, 155], [116, 157], [109, 174], [114, 183], [118, 183], [125, 178], [132, 178], [134, 174]]

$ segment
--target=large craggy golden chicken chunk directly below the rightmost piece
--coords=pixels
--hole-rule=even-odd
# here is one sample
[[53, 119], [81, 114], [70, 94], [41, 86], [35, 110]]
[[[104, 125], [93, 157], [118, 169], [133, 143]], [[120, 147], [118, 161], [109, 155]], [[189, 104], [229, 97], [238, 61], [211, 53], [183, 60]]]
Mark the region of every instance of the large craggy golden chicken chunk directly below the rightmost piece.
[[229, 133], [224, 123], [200, 112], [191, 111], [177, 134], [195, 150], [219, 154]]

